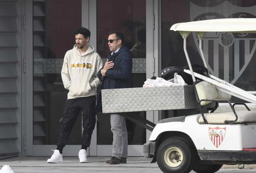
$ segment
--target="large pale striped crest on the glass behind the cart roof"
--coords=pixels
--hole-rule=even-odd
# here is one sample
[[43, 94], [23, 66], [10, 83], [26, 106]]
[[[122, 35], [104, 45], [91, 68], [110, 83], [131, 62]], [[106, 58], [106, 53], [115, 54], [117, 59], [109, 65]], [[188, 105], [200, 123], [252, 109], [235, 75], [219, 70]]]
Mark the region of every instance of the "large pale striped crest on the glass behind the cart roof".
[[[256, 18], [256, 5], [240, 7], [223, 1], [215, 6], [201, 7], [190, 2], [190, 21], [223, 18]], [[199, 38], [193, 33], [197, 50]], [[202, 49], [211, 74], [234, 84], [244, 72], [256, 50], [252, 34], [208, 32], [202, 39]]]

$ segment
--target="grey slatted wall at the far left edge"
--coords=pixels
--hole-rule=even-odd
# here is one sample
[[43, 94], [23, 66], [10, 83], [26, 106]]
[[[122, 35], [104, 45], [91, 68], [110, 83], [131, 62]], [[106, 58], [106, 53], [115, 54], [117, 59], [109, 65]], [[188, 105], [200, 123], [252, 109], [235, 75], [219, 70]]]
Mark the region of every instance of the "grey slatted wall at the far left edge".
[[0, 159], [18, 156], [20, 148], [17, 18], [16, 0], [0, 0]]

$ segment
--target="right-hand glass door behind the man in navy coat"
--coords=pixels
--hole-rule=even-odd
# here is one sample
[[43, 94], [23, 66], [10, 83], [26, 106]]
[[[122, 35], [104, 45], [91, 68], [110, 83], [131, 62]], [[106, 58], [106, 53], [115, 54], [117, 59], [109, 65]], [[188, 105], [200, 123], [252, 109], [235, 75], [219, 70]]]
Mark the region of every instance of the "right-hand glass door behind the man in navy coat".
[[[152, 40], [146, 38], [146, 0], [97, 0], [97, 53], [103, 60], [111, 53], [106, 43], [109, 32], [120, 31], [125, 36], [125, 45], [133, 54], [132, 87], [142, 87], [146, 77], [153, 75], [148, 70], [147, 43]], [[95, 15], [95, 14], [94, 14]], [[152, 16], [152, 15], [151, 15]], [[150, 16], [150, 17], [151, 17]], [[150, 27], [152, 29], [152, 27]], [[151, 57], [152, 58], [152, 57]], [[148, 74], [148, 75], [147, 75]], [[130, 114], [147, 118], [145, 111]], [[128, 156], [143, 156], [143, 144], [147, 142], [147, 130], [126, 119], [128, 132]], [[112, 140], [110, 115], [98, 114], [97, 134], [94, 143], [97, 144], [97, 156], [111, 156]], [[97, 141], [97, 142], [96, 142]]]

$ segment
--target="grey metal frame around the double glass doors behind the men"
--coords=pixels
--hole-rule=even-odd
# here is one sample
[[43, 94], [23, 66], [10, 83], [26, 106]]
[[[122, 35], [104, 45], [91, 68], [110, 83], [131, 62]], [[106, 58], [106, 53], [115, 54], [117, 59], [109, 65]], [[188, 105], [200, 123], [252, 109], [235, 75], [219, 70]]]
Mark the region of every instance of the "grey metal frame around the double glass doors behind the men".
[[[90, 45], [97, 50], [97, 2], [95, 0], [81, 0], [82, 2], [82, 26], [88, 28], [91, 31]], [[150, 78], [153, 75], [158, 76], [159, 71], [159, 46], [161, 46], [161, 40], [159, 42], [159, 26], [161, 26], [161, 13], [159, 8], [161, 1], [146, 0], [146, 78]], [[26, 67], [33, 67], [33, 0], [25, 1], [25, 15], [26, 15]], [[159, 15], [160, 14], [160, 15]], [[154, 21], [153, 21], [154, 19]], [[160, 22], [160, 25], [158, 24]], [[154, 28], [153, 28], [154, 25]], [[160, 63], [161, 64], [161, 63]], [[155, 70], [153, 70], [153, 67]], [[25, 83], [25, 137], [24, 146], [26, 146], [26, 156], [51, 156], [51, 149], [55, 149], [55, 145], [33, 145], [33, 68], [26, 68], [26, 74], [24, 75]], [[32, 80], [31, 80], [32, 79]], [[159, 111], [147, 111], [147, 120], [156, 123], [159, 120]], [[97, 126], [97, 125], [96, 125]], [[83, 129], [82, 129], [83, 130]], [[92, 134], [91, 145], [88, 148], [88, 156], [109, 156], [109, 149], [112, 149], [112, 145], [97, 145], [97, 127]], [[146, 141], [149, 140], [151, 132], [146, 130]], [[63, 156], [77, 156], [80, 149], [80, 145], [67, 145]], [[129, 156], [143, 156], [143, 145], [129, 145]]]

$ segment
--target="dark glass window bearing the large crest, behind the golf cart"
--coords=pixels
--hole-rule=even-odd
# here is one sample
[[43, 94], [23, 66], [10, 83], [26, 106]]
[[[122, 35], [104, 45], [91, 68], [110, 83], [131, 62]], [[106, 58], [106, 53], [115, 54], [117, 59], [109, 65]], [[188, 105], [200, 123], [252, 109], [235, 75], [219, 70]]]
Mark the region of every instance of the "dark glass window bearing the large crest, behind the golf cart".
[[[162, 0], [162, 69], [187, 65], [183, 39], [178, 32], [170, 31], [173, 24], [222, 18], [255, 18], [255, 8], [254, 0]], [[202, 48], [211, 74], [246, 91], [256, 91], [255, 40], [256, 34], [206, 33]], [[199, 39], [194, 33], [187, 38], [187, 51], [192, 64], [203, 64], [198, 53]], [[245, 102], [235, 97], [230, 101]], [[179, 115], [179, 111], [169, 111], [171, 114]], [[163, 111], [162, 115], [166, 118], [168, 111]]]

